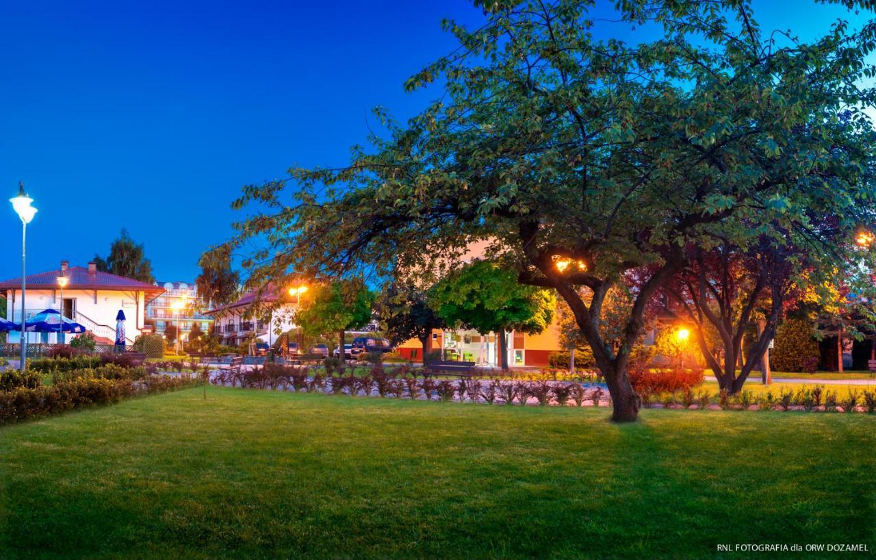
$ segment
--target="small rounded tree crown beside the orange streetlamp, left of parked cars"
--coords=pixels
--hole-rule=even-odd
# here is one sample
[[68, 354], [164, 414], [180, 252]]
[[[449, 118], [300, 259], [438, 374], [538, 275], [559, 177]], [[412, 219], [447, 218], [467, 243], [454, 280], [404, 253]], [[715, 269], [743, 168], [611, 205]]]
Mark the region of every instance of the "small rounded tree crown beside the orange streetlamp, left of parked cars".
[[[310, 288], [296, 317], [310, 335], [359, 329], [371, 321], [374, 294], [358, 281], [335, 281]], [[304, 305], [302, 301], [302, 305]]]

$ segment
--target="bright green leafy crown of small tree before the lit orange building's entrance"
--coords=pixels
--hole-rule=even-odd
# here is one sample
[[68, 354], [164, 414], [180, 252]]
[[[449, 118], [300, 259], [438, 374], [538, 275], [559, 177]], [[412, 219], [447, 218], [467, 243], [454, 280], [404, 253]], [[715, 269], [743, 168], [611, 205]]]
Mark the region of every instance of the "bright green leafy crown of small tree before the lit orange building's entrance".
[[548, 328], [556, 308], [554, 294], [523, 286], [515, 273], [485, 260], [449, 273], [432, 287], [428, 298], [429, 306], [447, 324], [484, 334], [540, 333]]

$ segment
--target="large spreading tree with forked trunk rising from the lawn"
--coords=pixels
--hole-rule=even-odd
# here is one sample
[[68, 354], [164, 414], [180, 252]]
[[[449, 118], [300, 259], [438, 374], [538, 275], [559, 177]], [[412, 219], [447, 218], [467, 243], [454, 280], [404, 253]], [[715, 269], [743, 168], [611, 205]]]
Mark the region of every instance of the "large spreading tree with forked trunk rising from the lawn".
[[[873, 222], [876, 151], [861, 108], [874, 93], [861, 84], [873, 74], [876, 24], [839, 22], [802, 43], [761, 32], [745, 1], [630, 0], [618, 5], [621, 25], [662, 28], [630, 45], [597, 39], [589, 3], [475, 4], [484, 25], [448, 22], [459, 48], [406, 84], [440, 81], [440, 101], [405, 125], [384, 118], [387, 133], [347, 167], [244, 188], [235, 207], [258, 211], [231, 245], [267, 239], [244, 261], [252, 279], [389, 273], [488, 239], [521, 282], [569, 304], [612, 417], [631, 421], [630, 351], [685, 247], [721, 235], [748, 245], [765, 227], [804, 236], [812, 209], [841, 216], [838, 233]], [[809, 242], [823, 246], [814, 233]], [[836, 252], [821, 259], [839, 268]], [[558, 266], [567, 262], [576, 266]], [[633, 271], [615, 347], [599, 330], [604, 299]]]

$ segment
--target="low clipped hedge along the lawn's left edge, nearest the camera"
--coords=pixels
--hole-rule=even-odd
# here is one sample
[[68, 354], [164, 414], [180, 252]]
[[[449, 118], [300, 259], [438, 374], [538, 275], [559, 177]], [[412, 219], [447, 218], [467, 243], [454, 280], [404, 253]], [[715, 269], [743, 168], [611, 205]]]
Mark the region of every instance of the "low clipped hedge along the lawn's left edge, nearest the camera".
[[52, 386], [20, 386], [0, 393], [0, 424], [55, 415], [89, 405], [109, 404], [138, 394], [160, 393], [194, 384], [194, 379], [188, 377], [159, 375], [139, 381], [82, 377]]

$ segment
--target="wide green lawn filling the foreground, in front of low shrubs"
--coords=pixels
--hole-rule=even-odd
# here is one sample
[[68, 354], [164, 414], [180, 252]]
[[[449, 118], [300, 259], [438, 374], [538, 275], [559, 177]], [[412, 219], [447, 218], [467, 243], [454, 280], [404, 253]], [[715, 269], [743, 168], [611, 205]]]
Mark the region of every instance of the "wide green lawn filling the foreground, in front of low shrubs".
[[873, 416], [607, 415], [211, 387], [27, 422], [0, 429], [0, 558], [876, 549]]

